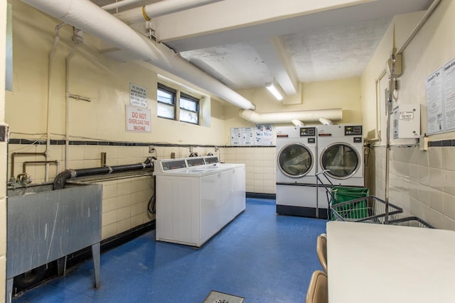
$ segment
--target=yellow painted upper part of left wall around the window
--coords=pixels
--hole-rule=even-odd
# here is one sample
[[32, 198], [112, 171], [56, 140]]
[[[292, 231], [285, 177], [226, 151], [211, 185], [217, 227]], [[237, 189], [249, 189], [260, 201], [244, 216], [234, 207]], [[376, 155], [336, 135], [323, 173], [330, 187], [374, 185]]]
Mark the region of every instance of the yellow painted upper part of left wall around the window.
[[[6, 120], [14, 136], [36, 138], [46, 131], [48, 55], [59, 22], [14, 1], [14, 92], [6, 93]], [[212, 101], [210, 127], [159, 119], [156, 116], [154, 67], [141, 62], [118, 62], [99, 53], [100, 41], [85, 34], [70, 60], [69, 92], [89, 97], [91, 102], [70, 99], [70, 138], [134, 142], [220, 145], [223, 105]], [[65, 57], [73, 46], [72, 28], [60, 31], [53, 68], [50, 71], [50, 132], [53, 138], [65, 133]], [[33, 51], [31, 51], [33, 50]], [[151, 133], [125, 131], [125, 104], [129, 83], [146, 87], [151, 110]], [[197, 89], [197, 88], [196, 88]], [[210, 98], [208, 98], [210, 101]], [[28, 109], [23, 111], [23, 109]]]

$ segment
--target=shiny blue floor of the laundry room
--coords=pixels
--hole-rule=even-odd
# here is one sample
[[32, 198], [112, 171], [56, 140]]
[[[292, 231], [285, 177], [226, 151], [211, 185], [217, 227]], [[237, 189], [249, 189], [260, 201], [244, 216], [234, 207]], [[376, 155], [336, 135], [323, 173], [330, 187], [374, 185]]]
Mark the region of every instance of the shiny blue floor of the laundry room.
[[277, 216], [274, 200], [249, 198], [202, 248], [156, 242], [150, 231], [101, 255], [99, 290], [90, 260], [13, 303], [200, 303], [210, 290], [245, 303], [304, 302], [311, 273], [321, 269], [316, 238], [325, 231], [325, 220]]

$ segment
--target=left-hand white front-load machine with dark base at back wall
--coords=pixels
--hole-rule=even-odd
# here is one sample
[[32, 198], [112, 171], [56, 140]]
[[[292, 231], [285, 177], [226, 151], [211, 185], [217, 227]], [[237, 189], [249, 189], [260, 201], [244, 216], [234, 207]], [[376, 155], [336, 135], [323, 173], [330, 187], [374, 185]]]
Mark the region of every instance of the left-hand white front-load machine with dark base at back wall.
[[316, 127], [277, 127], [277, 214], [326, 216], [316, 188]]

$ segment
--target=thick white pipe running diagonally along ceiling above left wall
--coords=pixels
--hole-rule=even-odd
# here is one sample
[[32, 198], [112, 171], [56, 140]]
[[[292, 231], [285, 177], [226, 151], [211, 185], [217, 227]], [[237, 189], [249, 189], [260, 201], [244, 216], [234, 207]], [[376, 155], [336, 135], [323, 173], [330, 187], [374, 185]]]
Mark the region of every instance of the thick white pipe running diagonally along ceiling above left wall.
[[90, 33], [90, 35], [127, 51], [138, 60], [144, 60], [181, 77], [241, 109], [254, 110], [256, 108], [245, 97], [187, 62], [166, 45], [147, 39], [89, 0], [23, 1], [85, 33]]

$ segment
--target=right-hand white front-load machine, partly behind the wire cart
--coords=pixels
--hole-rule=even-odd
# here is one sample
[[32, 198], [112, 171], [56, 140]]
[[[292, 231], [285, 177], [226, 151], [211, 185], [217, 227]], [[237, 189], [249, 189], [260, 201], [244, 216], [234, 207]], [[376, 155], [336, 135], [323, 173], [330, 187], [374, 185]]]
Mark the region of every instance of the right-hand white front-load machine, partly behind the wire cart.
[[362, 126], [318, 126], [318, 154], [318, 171], [334, 185], [364, 186]]

